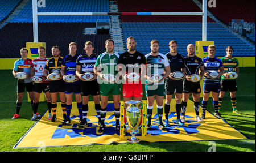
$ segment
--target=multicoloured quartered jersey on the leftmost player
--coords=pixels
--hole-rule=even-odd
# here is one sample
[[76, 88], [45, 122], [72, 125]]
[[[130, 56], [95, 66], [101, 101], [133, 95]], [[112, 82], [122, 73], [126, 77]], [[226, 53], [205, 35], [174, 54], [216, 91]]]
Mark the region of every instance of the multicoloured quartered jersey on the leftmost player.
[[[32, 63], [31, 59], [27, 58], [26, 60], [24, 60], [24, 59], [20, 58], [17, 61], [15, 61], [13, 70], [17, 71], [17, 72], [25, 72], [28, 75], [30, 75], [30, 70], [31, 70], [32, 66], [33, 66], [33, 63]], [[18, 82], [19, 83], [31, 83], [31, 80], [30, 80], [30, 78], [23, 79], [23, 80], [18, 79]]]

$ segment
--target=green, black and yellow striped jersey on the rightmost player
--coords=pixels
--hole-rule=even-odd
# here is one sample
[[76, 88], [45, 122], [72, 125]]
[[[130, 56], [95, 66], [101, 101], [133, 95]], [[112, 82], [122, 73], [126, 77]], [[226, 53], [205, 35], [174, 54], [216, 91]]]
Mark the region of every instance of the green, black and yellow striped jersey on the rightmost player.
[[[222, 61], [222, 65], [224, 67], [224, 73], [225, 72], [236, 72], [236, 67], [239, 67], [239, 62], [237, 60], [237, 58], [227, 58], [226, 56], [225, 57], [222, 57], [221, 58], [221, 61]], [[225, 78], [224, 75], [221, 75], [221, 79], [225, 79], [225, 80], [236, 80], [236, 79], [228, 79], [228, 78]]]

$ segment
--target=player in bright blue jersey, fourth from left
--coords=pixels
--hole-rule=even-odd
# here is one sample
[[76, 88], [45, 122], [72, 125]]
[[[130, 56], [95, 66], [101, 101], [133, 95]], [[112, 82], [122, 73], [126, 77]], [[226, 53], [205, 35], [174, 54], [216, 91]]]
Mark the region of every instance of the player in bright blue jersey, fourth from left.
[[[76, 75], [76, 60], [78, 55], [76, 54], [77, 44], [76, 42], [71, 42], [68, 45], [69, 54], [63, 57], [63, 61], [61, 63], [61, 70], [60, 73], [65, 78], [65, 75], [73, 74]], [[84, 122], [82, 119], [82, 97], [81, 97], [81, 90], [80, 90], [80, 80], [77, 80], [73, 83], [65, 82], [65, 95], [67, 98], [67, 121], [63, 122], [63, 125], [68, 125], [70, 120], [70, 113], [72, 109], [72, 100], [73, 100], [73, 93], [75, 93], [75, 99], [77, 102], [77, 109], [79, 110], [79, 122], [80, 125], [83, 126]]]

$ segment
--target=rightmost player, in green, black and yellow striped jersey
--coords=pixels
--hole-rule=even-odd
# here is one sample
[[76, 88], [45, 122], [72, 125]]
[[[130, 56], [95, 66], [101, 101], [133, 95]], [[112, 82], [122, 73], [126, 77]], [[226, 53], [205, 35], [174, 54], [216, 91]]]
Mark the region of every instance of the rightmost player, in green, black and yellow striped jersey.
[[237, 82], [236, 79], [230, 79], [228, 72], [236, 72], [237, 75], [239, 73], [239, 62], [236, 58], [233, 57], [234, 49], [232, 46], [226, 47], [226, 56], [221, 58], [222, 65], [224, 67], [224, 74], [221, 75], [221, 91], [218, 96], [218, 110], [220, 111], [223, 97], [226, 91], [229, 90], [229, 95], [231, 98], [231, 104], [233, 108], [233, 113], [240, 115], [237, 111]]

